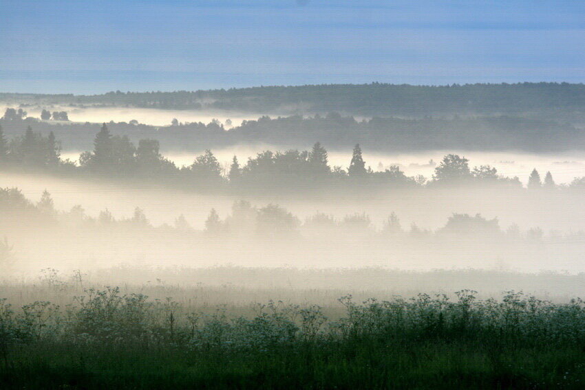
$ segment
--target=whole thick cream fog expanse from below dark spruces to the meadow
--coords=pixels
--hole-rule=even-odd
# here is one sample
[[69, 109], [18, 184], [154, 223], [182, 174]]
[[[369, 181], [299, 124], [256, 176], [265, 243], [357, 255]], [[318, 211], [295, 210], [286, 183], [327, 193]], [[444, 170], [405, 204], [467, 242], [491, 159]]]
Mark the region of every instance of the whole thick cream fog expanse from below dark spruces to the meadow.
[[[18, 213], [3, 221], [3, 233], [14, 246], [11, 272], [21, 275], [43, 268], [70, 272], [120, 265], [152, 270], [226, 264], [583, 272], [582, 191], [526, 193], [525, 189], [469, 187], [242, 197], [17, 173], [3, 173], [1, 183], [18, 186], [34, 202], [46, 189], [56, 210], [56, 222], [48, 226], [36, 219], [11, 224], [12, 217], [23, 218]], [[288, 217], [281, 215], [278, 218], [284, 219], [268, 219], [268, 230], [262, 230], [255, 214], [242, 225], [235, 224], [233, 205], [241, 199], [250, 202], [250, 210], [277, 204], [292, 213], [290, 221], [297, 220], [298, 226], [291, 228]], [[79, 210], [69, 211], [76, 205], [83, 207], [85, 216]], [[136, 207], [147, 220], [136, 218]], [[217, 226], [222, 226], [217, 231], [209, 231], [206, 224], [211, 208], [219, 215]], [[104, 210], [115, 223], [102, 220]], [[311, 219], [317, 212], [325, 217]], [[388, 232], [384, 222], [392, 213], [400, 228]], [[444, 232], [449, 217], [461, 213], [480, 213], [486, 221], [497, 218], [497, 231], [480, 227], [467, 232], [464, 226]], [[190, 227], [177, 225], [180, 215]]]

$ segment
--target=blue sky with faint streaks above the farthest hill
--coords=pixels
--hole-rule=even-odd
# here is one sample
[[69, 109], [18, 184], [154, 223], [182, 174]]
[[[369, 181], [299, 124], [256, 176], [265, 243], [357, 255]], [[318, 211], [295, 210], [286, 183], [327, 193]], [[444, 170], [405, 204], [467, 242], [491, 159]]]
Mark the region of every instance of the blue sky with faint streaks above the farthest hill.
[[0, 14], [0, 91], [585, 82], [582, 1], [29, 1]]

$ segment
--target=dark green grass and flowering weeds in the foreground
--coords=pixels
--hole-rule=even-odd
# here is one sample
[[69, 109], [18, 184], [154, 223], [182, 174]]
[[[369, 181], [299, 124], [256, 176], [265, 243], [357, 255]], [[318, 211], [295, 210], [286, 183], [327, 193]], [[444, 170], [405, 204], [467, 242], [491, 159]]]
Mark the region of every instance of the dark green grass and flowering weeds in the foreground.
[[87, 290], [0, 305], [0, 382], [19, 389], [582, 389], [585, 307], [509, 293], [189, 312]]

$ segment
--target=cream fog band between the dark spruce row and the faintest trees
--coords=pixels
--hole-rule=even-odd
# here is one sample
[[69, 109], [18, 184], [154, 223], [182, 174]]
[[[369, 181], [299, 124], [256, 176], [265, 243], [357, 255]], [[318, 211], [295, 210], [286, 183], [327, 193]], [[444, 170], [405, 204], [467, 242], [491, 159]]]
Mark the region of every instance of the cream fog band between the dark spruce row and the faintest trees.
[[284, 195], [270, 191], [217, 194], [174, 190], [164, 183], [125, 182], [124, 180], [83, 180], [52, 175], [0, 173], [0, 187], [19, 188], [36, 202], [48, 191], [58, 210], [80, 205], [87, 215], [97, 217], [109, 210], [116, 217], [131, 217], [141, 208], [152, 224], [173, 224], [184, 215], [190, 226], [202, 228], [211, 208], [224, 218], [233, 202], [247, 200], [255, 206], [279, 204], [304, 220], [319, 211], [343, 219], [365, 213], [376, 227], [383, 226], [396, 213], [404, 228], [416, 224], [436, 229], [453, 213], [480, 213], [497, 218], [503, 229], [518, 224], [522, 229], [540, 227], [545, 234], [577, 233], [585, 230], [585, 191], [527, 191], [526, 189], [467, 186], [461, 188], [388, 188], [381, 191], [319, 191]]

